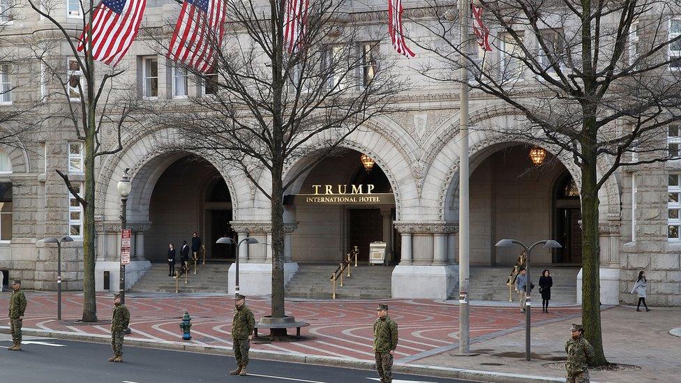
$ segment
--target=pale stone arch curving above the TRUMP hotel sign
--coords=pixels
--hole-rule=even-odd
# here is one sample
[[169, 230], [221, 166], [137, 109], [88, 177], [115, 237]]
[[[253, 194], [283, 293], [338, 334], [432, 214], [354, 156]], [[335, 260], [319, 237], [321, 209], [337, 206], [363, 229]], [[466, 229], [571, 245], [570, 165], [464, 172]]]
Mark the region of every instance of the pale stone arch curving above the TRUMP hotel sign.
[[[308, 142], [306, 147], [309, 150], [306, 152], [306, 155], [292, 161], [284, 170], [284, 183], [287, 183], [294, 177], [294, 174], [297, 174], [297, 172], [308, 167], [308, 169], [294, 181], [286, 193], [299, 193], [306, 176], [313, 168], [310, 167], [310, 164], [314, 163], [324, 152], [324, 149], [312, 148], [328, 148], [334, 142], [335, 141], [331, 140], [329, 134], [320, 135]], [[338, 145], [338, 147], [354, 149], [361, 153], [366, 153], [381, 167], [388, 178], [395, 195], [396, 220], [401, 220], [407, 207], [412, 205], [416, 206], [418, 204], [418, 193], [414, 178], [397, 177], [398, 174], [405, 174], [405, 172], [411, 173], [410, 161], [408, 160], [408, 156], [405, 158], [406, 151], [404, 148], [400, 148], [402, 150], [396, 148], [392, 142], [389, 142], [383, 135], [380, 135], [380, 133], [377, 133], [374, 130], [357, 130], [349, 135], [342, 144]]]

